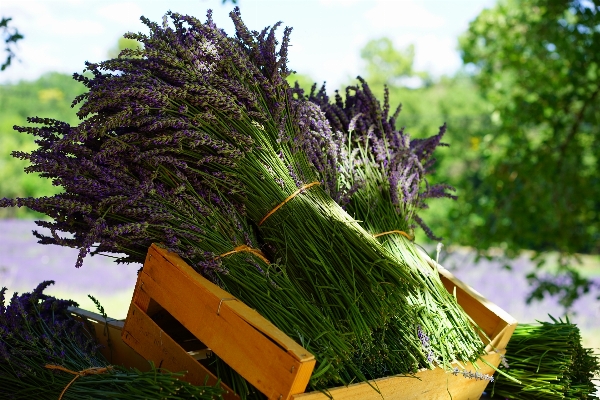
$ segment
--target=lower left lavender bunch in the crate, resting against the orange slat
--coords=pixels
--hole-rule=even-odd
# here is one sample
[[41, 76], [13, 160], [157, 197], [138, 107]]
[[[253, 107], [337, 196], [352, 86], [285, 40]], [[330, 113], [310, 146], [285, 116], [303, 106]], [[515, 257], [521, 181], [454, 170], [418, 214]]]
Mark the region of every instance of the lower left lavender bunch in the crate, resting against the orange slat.
[[[40, 136], [53, 129], [61, 139], [74, 133], [67, 125], [52, 128], [48, 121], [41, 122], [44, 126], [30, 132]], [[42, 243], [77, 246], [85, 252], [93, 243], [92, 254], [120, 253], [124, 256], [118, 262], [139, 263], [150, 244], [162, 243], [315, 354], [319, 362], [313, 387], [356, 376], [358, 368], [349, 361], [351, 341], [298, 293], [284, 266], [271, 265], [262, 255], [253, 228], [221, 193], [204, 187], [197, 191], [181, 172], [140, 160], [132, 146], [115, 150], [107, 166], [93, 157], [86, 143], [71, 142], [70, 153], [77, 154], [78, 162], [69, 162], [62, 147], [43, 145], [48, 146], [42, 147], [44, 154], [61, 157], [56, 179], [66, 193], [53, 199], [15, 200], [54, 218], [37, 222], [51, 229], [49, 237], [36, 233]], [[58, 201], [66, 196], [68, 203]], [[76, 217], [69, 214], [74, 209]], [[73, 238], [59, 236], [59, 229]], [[80, 253], [78, 262], [81, 257]], [[249, 391], [243, 383], [241, 390], [242, 396]]]

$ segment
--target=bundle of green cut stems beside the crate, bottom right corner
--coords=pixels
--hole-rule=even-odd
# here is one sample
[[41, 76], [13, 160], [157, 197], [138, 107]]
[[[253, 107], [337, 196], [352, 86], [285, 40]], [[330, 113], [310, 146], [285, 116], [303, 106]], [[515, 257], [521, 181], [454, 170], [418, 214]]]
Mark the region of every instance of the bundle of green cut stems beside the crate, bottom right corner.
[[552, 322], [520, 324], [506, 346], [505, 372], [516, 383], [497, 376], [486, 391], [509, 399], [597, 399], [594, 375], [600, 357], [581, 345], [577, 325]]

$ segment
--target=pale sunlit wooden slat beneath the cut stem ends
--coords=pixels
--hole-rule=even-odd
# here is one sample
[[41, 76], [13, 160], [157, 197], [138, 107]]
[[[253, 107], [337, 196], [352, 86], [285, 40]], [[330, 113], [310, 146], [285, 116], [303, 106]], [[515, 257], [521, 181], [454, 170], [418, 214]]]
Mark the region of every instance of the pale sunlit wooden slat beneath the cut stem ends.
[[[500, 362], [500, 355], [496, 353], [490, 353], [483, 358], [492, 365], [498, 365]], [[493, 375], [494, 370], [491, 367], [483, 362], [477, 364], [480, 367], [479, 369], [476, 369], [471, 363], [466, 365], [454, 364], [454, 366], [458, 367], [461, 372], [464, 367], [467, 371], [478, 371], [482, 374]], [[294, 396], [293, 399], [329, 400], [329, 395], [334, 400], [469, 400], [479, 399], [487, 383], [485, 380], [465, 378], [462, 373], [454, 375], [441, 368], [436, 368], [419, 371], [416, 377], [398, 375], [375, 379], [370, 382], [372, 386], [363, 382], [348, 387], [330, 389], [327, 394], [320, 392], [299, 394]]]

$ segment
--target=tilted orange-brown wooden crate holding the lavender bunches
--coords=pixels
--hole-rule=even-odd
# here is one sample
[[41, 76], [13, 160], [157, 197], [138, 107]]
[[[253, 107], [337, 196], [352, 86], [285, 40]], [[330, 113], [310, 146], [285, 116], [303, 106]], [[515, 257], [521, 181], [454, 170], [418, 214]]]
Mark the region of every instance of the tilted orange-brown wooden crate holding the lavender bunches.
[[[517, 321], [449, 271], [424, 255], [485, 332], [487, 354], [497, 367]], [[485, 339], [485, 336], [491, 340]], [[256, 311], [196, 273], [176, 254], [152, 245], [138, 276], [122, 340], [144, 358], [197, 383], [210, 372], [197, 354], [214, 351], [269, 399], [325, 400], [321, 392], [305, 393], [314, 357]], [[489, 342], [489, 343], [488, 343]], [[459, 373], [440, 368], [416, 376], [393, 376], [369, 383], [331, 388], [334, 399], [478, 399], [487, 381], [469, 379], [463, 371], [492, 375], [493, 367], [456, 364]], [[194, 378], [195, 377], [195, 378]], [[214, 379], [210, 375], [211, 381]], [[376, 387], [378, 390], [374, 390]]]

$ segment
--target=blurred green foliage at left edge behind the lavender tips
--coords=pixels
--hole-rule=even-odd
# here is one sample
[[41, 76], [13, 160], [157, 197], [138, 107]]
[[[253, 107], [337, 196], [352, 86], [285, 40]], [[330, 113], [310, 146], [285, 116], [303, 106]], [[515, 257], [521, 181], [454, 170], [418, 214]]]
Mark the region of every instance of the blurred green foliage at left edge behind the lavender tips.
[[[70, 76], [49, 73], [33, 82], [0, 85], [0, 197], [40, 197], [58, 193], [51, 181], [37, 174], [26, 174], [27, 163], [11, 156], [12, 151], [29, 152], [37, 148], [30, 135], [13, 130], [14, 125], [26, 124], [27, 117], [41, 116], [69, 123], [78, 121], [71, 108], [75, 96], [84, 87]], [[25, 208], [3, 208], [0, 218], [38, 218], [40, 215]]]

